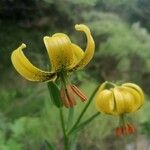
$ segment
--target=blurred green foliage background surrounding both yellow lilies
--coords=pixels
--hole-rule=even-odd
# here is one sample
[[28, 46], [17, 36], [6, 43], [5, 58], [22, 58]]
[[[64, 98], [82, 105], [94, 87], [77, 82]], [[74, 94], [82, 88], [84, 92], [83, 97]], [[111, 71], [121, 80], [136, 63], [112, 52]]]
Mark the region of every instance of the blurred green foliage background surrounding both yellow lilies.
[[[132, 81], [141, 85], [148, 96], [136, 116], [138, 120], [136, 117], [134, 120], [139, 123], [141, 134], [150, 136], [149, 15], [149, 0], [1, 0], [0, 149], [45, 150], [44, 140], [52, 140], [61, 149], [57, 109], [49, 101], [46, 86], [30, 84], [18, 76], [12, 68], [10, 55], [24, 42], [26, 55], [34, 64], [47, 69], [49, 60], [43, 36], [65, 32], [84, 49], [86, 41], [80, 33], [75, 33], [76, 23], [89, 25], [96, 53], [86, 72], [76, 73], [72, 80], [88, 95], [104, 80]], [[76, 112], [82, 107], [83, 104], [79, 104]], [[94, 111], [93, 104], [87, 116]], [[112, 135], [116, 124], [116, 118], [102, 115], [79, 136], [78, 149], [109, 150], [118, 149], [120, 145], [122, 150], [122, 144], [131, 140], [116, 139]], [[134, 142], [136, 136], [131, 139]]]

